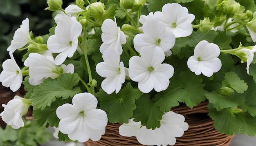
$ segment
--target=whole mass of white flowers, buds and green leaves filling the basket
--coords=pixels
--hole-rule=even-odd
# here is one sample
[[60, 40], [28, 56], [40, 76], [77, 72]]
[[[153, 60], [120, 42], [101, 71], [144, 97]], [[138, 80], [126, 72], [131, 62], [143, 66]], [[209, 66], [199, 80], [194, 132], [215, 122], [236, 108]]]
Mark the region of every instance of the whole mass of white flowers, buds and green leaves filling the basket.
[[[98, 141], [110, 122], [141, 144], [174, 145], [189, 125], [172, 108], [207, 100], [220, 133], [256, 134], [255, 4], [47, 3], [56, 23], [49, 34], [35, 37], [26, 18], [7, 48], [11, 59], [2, 64], [0, 82], [27, 91], [2, 105], [8, 125], [24, 126], [21, 117], [32, 106], [37, 125], [57, 127], [62, 141]], [[27, 50], [22, 68], [17, 50]]]

